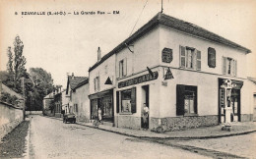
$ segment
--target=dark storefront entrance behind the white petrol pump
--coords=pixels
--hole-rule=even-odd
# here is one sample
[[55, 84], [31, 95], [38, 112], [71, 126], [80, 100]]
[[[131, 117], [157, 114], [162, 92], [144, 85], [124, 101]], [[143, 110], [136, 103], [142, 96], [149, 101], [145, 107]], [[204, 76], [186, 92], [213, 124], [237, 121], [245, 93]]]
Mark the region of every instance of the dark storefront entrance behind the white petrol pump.
[[240, 90], [243, 85], [243, 81], [231, 80], [235, 86], [231, 89], [230, 99], [225, 97], [225, 89], [221, 87], [224, 83], [224, 79], [219, 79], [219, 122], [224, 123], [225, 102], [232, 108], [232, 113], [230, 115], [231, 122], [240, 122]]

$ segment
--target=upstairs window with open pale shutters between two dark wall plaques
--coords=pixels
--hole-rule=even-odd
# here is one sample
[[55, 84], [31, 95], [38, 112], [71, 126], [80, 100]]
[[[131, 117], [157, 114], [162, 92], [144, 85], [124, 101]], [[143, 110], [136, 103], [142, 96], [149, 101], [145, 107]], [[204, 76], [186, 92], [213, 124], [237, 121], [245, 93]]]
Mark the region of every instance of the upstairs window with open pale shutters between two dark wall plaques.
[[201, 51], [191, 47], [179, 47], [180, 68], [201, 70]]

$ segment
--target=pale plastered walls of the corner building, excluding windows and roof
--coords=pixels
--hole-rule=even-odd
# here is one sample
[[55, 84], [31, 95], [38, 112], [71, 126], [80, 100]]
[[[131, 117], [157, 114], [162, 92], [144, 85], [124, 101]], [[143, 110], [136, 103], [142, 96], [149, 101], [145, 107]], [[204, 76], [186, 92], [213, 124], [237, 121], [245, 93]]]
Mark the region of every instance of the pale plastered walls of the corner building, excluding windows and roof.
[[[154, 40], [153, 40], [154, 39]], [[116, 91], [136, 86], [137, 112], [134, 114], [117, 114], [115, 111], [116, 126], [124, 128], [140, 128], [141, 107], [144, 103], [142, 85], [150, 85], [150, 129], [156, 129], [161, 124], [167, 131], [182, 128], [194, 128], [200, 126], [212, 126], [219, 124], [219, 78], [235, 79], [243, 81], [240, 95], [241, 121], [251, 121], [253, 114], [252, 91], [246, 77], [246, 54], [245, 52], [210, 42], [208, 40], [190, 36], [181, 32], [173, 31], [165, 27], [158, 27], [149, 32], [138, 41], [133, 43], [134, 53], [123, 49], [116, 55], [116, 75], [119, 74], [119, 61], [127, 58], [127, 76], [117, 78], [118, 82], [133, 79], [141, 75], [149, 74], [146, 67], [159, 72], [159, 79], [139, 83], [136, 85], [118, 88]], [[201, 70], [192, 71], [179, 69], [179, 45], [194, 47], [201, 51]], [[170, 64], [161, 62], [161, 50], [172, 49], [173, 60]], [[216, 50], [216, 67], [208, 66], [208, 48]], [[158, 57], [156, 57], [158, 56]], [[223, 56], [237, 60], [237, 74], [235, 77], [223, 75]], [[155, 67], [159, 66], [159, 67]], [[163, 67], [170, 67], [174, 79], [164, 80]], [[167, 84], [164, 86], [162, 84]], [[176, 116], [176, 85], [197, 86], [197, 110], [198, 117]], [[116, 101], [116, 99], [115, 99]], [[115, 107], [116, 109], [116, 102]], [[183, 121], [183, 122], [182, 122]], [[194, 122], [189, 122], [194, 121]], [[187, 123], [187, 126], [185, 126]], [[177, 124], [177, 125], [169, 125]]]

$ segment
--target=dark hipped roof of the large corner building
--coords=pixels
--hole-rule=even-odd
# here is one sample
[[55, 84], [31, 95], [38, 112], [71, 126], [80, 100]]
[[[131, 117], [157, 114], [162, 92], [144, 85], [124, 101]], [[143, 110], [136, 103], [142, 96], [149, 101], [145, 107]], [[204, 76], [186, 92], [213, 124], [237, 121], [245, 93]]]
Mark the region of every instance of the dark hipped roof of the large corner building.
[[96, 64], [89, 69], [89, 72], [96, 69], [98, 65], [100, 65], [102, 62], [104, 62], [106, 59], [108, 59], [111, 55], [117, 53], [118, 51], [122, 50], [126, 47], [125, 44], [130, 44], [152, 30], [155, 27], [158, 26], [164, 26], [168, 28], [172, 28], [175, 30], [179, 30], [188, 34], [196, 35], [199, 37], [203, 37], [205, 39], [208, 39], [210, 41], [214, 41], [220, 44], [224, 44], [226, 46], [236, 48], [238, 50], [242, 50], [246, 53], [250, 53], [251, 50], [236, 44], [228, 39], [225, 39], [224, 37], [213, 33], [205, 28], [198, 27], [196, 25], [190, 24], [188, 22], [178, 20], [176, 18], [164, 15], [162, 13], [158, 13], [153, 19], [151, 19], [146, 25], [143, 27], [140, 27], [135, 33], [133, 33], [131, 36], [129, 36], [127, 39], [125, 39], [123, 42], [121, 42], [118, 46], [116, 46], [112, 51], [104, 55], [100, 61], [96, 62]]

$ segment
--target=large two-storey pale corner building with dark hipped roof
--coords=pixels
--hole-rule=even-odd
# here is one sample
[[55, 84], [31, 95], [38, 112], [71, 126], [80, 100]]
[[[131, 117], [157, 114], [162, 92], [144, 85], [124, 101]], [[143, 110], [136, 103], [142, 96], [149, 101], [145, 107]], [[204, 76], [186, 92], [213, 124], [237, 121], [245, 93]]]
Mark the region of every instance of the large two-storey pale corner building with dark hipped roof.
[[115, 74], [106, 75], [114, 80], [115, 127], [141, 129], [147, 103], [150, 130], [182, 130], [224, 123], [225, 79], [235, 83], [231, 121], [252, 121], [253, 92], [245, 75], [248, 53], [202, 27], [159, 13], [91, 71], [103, 71], [104, 63], [114, 66]]

